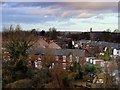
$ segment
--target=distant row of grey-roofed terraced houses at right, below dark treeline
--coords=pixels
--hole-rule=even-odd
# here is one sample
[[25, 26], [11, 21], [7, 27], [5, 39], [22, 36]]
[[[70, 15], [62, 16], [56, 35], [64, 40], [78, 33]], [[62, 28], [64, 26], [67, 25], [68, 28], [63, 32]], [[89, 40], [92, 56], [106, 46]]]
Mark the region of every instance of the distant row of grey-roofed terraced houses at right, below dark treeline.
[[77, 43], [78, 45], [82, 43], [88, 51], [91, 51], [90, 49], [95, 48], [97, 46], [100, 50], [99, 53], [100, 56], [104, 55], [104, 51], [106, 47], [110, 48], [111, 56], [113, 56], [114, 58], [118, 58], [120, 56], [120, 43], [110, 43], [105, 41], [90, 41], [90, 40], [79, 40], [76, 41], [75, 43]]

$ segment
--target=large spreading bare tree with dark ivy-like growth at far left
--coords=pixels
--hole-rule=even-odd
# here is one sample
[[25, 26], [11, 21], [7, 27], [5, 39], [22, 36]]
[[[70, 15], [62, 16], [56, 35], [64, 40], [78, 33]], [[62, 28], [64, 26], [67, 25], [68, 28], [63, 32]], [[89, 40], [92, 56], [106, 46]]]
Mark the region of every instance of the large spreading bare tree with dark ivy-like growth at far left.
[[2, 38], [2, 47], [6, 48], [10, 57], [7, 62], [3, 61], [3, 82], [6, 85], [26, 77], [28, 70], [27, 50], [34, 44], [35, 37], [31, 33], [17, 28], [15, 31], [3, 32]]

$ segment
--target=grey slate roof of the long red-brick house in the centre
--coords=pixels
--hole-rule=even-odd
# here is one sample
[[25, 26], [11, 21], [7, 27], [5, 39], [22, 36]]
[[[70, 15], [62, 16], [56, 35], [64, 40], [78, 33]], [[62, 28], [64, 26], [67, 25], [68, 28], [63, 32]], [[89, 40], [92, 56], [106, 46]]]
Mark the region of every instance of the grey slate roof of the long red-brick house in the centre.
[[[72, 53], [73, 56], [77, 57], [83, 57], [84, 55], [84, 50], [80, 49], [51, 49], [51, 50], [55, 50], [56, 56], [69, 56], [70, 53]], [[44, 51], [45, 48], [39, 48], [34, 52], [34, 54], [37, 55], [45, 54]]]

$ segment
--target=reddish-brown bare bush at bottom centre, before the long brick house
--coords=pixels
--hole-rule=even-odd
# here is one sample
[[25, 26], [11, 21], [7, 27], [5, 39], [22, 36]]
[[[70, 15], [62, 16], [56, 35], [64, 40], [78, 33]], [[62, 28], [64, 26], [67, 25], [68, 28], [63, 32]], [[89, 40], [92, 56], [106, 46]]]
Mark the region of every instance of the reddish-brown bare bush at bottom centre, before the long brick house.
[[62, 65], [55, 65], [55, 68], [50, 70], [53, 81], [46, 84], [46, 88], [73, 88], [73, 79], [63, 68]]

